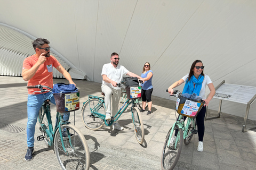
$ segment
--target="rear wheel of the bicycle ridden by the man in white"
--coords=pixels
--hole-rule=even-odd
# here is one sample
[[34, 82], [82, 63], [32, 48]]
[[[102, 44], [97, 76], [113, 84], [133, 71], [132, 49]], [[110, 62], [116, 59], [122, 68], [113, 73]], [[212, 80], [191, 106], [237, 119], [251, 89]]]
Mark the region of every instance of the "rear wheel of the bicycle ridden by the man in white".
[[[90, 101], [90, 105], [89, 105], [89, 101]], [[90, 99], [90, 100], [87, 100], [82, 107], [83, 122], [86, 128], [88, 129], [97, 130], [104, 125], [104, 120], [102, 120], [102, 118], [94, 116], [91, 113], [91, 109], [90, 109], [90, 107], [91, 108], [95, 107], [99, 102], [100, 102], [99, 99]], [[101, 114], [106, 114], [105, 105], [102, 104], [101, 107], [99, 108], [99, 111], [97, 112]]]

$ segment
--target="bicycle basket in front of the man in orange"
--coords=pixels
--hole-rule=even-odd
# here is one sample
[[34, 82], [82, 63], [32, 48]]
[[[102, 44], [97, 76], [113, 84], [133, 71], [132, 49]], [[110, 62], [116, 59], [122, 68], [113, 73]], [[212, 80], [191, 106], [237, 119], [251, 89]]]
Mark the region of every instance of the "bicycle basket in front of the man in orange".
[[79, 109], [79, 91], [53, 94], [57, 112], [72, 112]]

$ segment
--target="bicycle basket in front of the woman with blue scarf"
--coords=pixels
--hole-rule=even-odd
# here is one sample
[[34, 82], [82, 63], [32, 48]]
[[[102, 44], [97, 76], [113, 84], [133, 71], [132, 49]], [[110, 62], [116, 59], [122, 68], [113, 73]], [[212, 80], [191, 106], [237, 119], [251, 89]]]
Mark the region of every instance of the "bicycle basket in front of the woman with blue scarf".
[[194, 118], [200, 112], [204, 103], [204, 100], [197, 101], [193, 99], [188, 99], [179, 94], [175, 109], [179, 114], [183, 116]]

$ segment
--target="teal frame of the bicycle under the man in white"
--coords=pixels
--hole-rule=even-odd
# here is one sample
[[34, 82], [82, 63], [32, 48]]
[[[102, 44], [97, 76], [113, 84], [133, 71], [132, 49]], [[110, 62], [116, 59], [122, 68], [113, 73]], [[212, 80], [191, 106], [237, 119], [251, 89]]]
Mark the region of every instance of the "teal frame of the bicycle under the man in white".
[[[97, 116], [99, 118], [102, 118], [102, 120], [105, 120], [105, 117], [106, 115], [105, 114], [101, 114], [99, 113], [99, 109], [102, 105], [105, 105], [105, 100], [103, 99], [103, 97], [98, 97], [98, 96], [92, 96], [92, 95], [88, 95], [88, 98], [89, 98], [89, 101], [90, 99], [99, 99], [100, 102], [94, 106], [93, 108], [90, 106], [90, 102], [89, 102], [89, 106], [90, 106], [90, 110], [91, 110], [91, 113], [94, 115], [94, 116]], [[131, 101], [130, 101], [131, 100]], [[85, 103], [84, 103], [85, 104]], [[123, 114], [123, 112], [125, 111], [125, 109], [130, 105], [132, 104], [132, 107], [131, 109], [133, 109], [134, 105], [135, 105], [135, 99], [127, 99], [123, 106], [118, 110], [118, 112], [116, 113], [116, 115], [114, 116], [114, 121], [111, 121], [111, 123], [106, 123], [106, 120], [105, 120], [105, 124], [107, 126], [110, 126], [113, 122], [116, 122], [118, 120], [118, 118]], [[126, 106], [125, 106], [126, 105]], [[119, 114], [119, 115], [118, 115]], [[117, 116], [118, 115], [118, 116]]]

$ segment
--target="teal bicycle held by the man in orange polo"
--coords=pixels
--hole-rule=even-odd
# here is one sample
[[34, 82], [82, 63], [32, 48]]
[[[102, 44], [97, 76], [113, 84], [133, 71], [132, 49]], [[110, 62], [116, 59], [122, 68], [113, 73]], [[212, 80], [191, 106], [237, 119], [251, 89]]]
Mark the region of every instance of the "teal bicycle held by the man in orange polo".
[[[52, 91], [52, 88], [40, 84], [27, 88], [40, 89], [35, 92]], [[44, 140], [47, 147], [54, 145], [55, 156], [62, 169], [89, 169], [90, 151], [84, 135], [70, 122], [64, 121], [64, 113], [60, 112], [57, 112], [53, 129], [49, 102], [50, 99], [45, 100], [38, 112], [39, 130], [42, 135], [38, 136], [37, 140]]]

